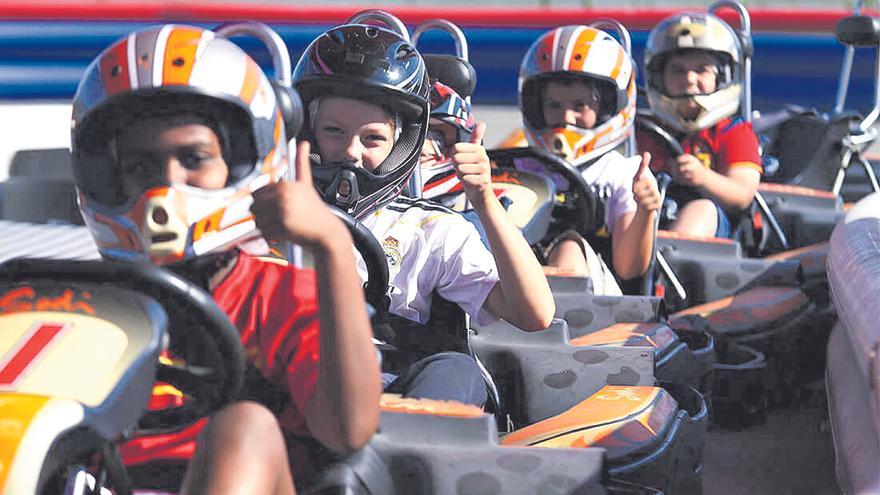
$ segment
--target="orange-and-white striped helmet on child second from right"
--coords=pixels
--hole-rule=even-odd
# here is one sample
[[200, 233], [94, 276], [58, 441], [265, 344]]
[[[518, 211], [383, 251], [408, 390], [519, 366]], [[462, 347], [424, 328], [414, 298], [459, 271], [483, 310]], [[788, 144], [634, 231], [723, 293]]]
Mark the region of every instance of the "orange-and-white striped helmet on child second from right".
[[[583, 165], [615, 148], [632, 132], [636, 114], [632, 57], [610, 34], [589, 26], [563, 26], [539, 37], [519, 70], [519, 104], [532, 146]], [[548, 81], [582, 79], [598, 90], [596, 125], [544, 122], [542, 97]]]

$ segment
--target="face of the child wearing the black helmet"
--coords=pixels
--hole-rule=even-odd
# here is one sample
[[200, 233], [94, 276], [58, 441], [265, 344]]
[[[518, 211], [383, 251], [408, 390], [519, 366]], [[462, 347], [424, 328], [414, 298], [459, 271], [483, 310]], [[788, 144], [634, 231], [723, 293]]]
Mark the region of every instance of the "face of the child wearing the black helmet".
[[325, 164], [354, 163], [372, 172], [394, 146], [390, 116], [379, 105], [365, 101], [325, 98], [314, 125], [315, 142]]

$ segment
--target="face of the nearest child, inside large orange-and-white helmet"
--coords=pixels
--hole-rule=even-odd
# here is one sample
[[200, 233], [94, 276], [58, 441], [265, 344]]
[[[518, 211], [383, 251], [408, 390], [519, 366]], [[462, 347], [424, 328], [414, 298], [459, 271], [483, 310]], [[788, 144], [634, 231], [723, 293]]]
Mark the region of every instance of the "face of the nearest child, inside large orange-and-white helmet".
[[222, 189], [229, 177], [220, 140], [208, 126], [148, 119], [117, 139], [123, 191], [134, 196], [156, 184]]

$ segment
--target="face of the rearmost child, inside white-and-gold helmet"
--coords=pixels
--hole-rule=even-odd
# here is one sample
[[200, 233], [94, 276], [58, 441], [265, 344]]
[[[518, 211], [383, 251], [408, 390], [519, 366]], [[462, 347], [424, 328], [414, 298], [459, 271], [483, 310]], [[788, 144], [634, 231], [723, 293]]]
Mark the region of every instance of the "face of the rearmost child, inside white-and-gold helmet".
[[[714, 93], [718, 85], [718, 61], [698, 51], [672, 55], [663, 67], [663, 85], [670, 96]], [[683, 102], [679, 108], [685, 118], [693, 118], [699, 111], [692, 100]]]

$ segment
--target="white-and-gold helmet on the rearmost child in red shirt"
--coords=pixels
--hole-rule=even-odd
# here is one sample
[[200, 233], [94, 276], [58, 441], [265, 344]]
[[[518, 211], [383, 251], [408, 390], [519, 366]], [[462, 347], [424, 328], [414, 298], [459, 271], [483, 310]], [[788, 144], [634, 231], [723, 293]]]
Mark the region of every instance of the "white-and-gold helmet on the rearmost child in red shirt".
[[[699, 51], [715, 61], [715, 91], [708, 94], [673, 94], [664, 72], [673, 55]], [[645, 47], [648, 104], [664, 123], [683, 132], [705, 129], [736, 113], [742, 96], [743, 50], [734, 30], [715, 15], [686, 12], [667, 17], [648, 35]], [[693, 119], [678, 108], [686, 100], [699, 106]]]

